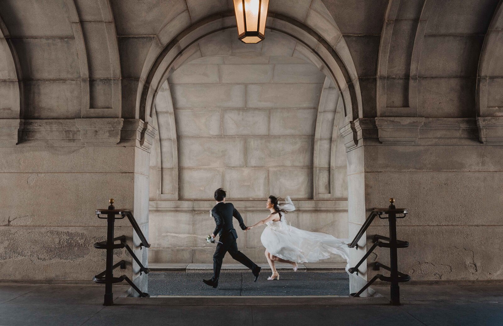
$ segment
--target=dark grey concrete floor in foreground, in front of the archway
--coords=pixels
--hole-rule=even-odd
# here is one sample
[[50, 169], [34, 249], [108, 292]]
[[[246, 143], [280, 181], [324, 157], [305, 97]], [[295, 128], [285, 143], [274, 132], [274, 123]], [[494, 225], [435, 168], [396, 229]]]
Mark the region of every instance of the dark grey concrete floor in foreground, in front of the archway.
[[[404, 285], [401, 306], [341, 297], [300, 298], [303, 304], [289, 297], [119, 297], [126, 289], [114, 286], [116, 305], [105, 307], [100, 285], [2, 284], [0, 325], [503, 325], [503, 285]], [[388, 287], [374, 289], [387, 296]]]

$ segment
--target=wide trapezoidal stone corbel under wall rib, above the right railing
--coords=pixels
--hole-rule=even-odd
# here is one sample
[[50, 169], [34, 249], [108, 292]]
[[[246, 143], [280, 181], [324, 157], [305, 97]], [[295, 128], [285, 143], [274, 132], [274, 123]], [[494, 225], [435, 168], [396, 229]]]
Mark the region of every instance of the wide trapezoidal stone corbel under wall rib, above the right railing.
[[383, 144], [411, 145], [419, 138], [425, 118], [375, 118], [379, 141]]

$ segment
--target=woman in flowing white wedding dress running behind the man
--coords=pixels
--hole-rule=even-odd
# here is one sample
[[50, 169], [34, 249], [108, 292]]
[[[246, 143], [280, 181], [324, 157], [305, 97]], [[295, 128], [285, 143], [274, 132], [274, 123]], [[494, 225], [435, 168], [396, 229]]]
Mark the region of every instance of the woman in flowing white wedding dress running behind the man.
[[260, 240], [266, 247], [267, 262], [273, 271], [273, 275], [268, 280], [280, 279], [274, 262], [292, 264], [293, 270], [297, 271], [297, 263], [315, 263], [320, 259], [329, 258], [331, 254], [342, 256], [348, 261], [346, 239], [337, 239], [324, 233], [309, 232], [289, 226], [285, 213], [295, 210], [295, 206], [290, 196], [286, 197], [286, 203], [283, 204], [280, 204], [278, 199], [278, 197], [269, 196], [266, 207], [269, 208], [271, 214], [265, 220], [246, 229], [267, 225]]

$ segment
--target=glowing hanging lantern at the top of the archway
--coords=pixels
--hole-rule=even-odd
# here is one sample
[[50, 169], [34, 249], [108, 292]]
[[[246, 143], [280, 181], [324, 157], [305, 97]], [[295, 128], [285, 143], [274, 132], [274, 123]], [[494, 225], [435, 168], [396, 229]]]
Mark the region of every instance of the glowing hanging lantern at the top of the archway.
[[266, 32], [269, 0], [233, 0], [237, 34], [244, 43], [259, 43]]

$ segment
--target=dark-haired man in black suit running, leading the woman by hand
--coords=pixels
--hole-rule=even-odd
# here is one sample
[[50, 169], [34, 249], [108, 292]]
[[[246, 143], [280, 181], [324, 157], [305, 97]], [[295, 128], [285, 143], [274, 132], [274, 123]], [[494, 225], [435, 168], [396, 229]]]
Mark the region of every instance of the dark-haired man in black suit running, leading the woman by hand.
[[237, 233], [234, 226], [232, 226], [232, 216], [239, 222], [239, 227], [241, 227], [242, 230], [246, 230], [241, 215], [237, 209], [234, 208], [234, 205], [230, 202], [225, 202], [225, 190], [222, 188], [215, 190], [215, 200], [217, 204], [211, 210], [211, 214], [213, 215], [213, 219], [215, 219], [216, 228], [211, 237], [215, 238], [216, 234], [219, 234], [220, 238], [218, 239], [219, 243], [213, 255], [213, 277], [209, 280], [203, 280], [203, 282], [214, 288], [218, 286], [218, 277], [220, 276], [222, 260], [226, 252], [228, 252], [233, 259], [251, 269], [251, 272], [255, 275], [255, 282], [257, 282], [261, 267], [257, 266], [257, 264], [237, 249]]

